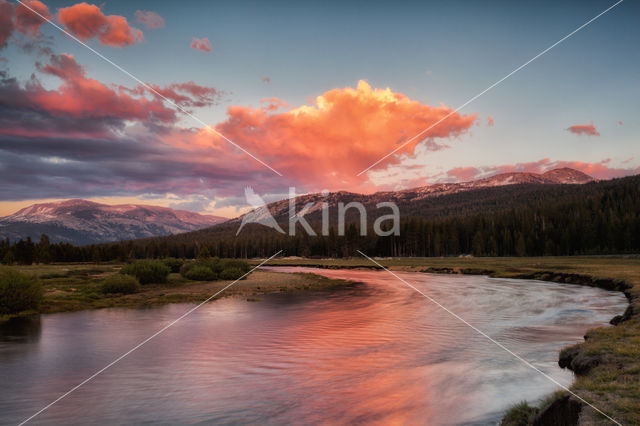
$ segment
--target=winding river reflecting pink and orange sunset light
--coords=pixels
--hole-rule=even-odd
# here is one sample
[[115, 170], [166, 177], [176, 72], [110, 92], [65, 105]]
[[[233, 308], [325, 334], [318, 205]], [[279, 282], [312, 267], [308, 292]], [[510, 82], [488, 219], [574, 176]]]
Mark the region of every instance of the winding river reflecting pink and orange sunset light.
[[[204, 305], [34, 424], [492, 424], [557, 386], [384, 271], [278, 268], [360, 282]], [[621, 293], [399, 273], [565, 385], [559, 350], [621, 314]], [[0, 326], [0, 424], [17, 424], [193, 305]]]

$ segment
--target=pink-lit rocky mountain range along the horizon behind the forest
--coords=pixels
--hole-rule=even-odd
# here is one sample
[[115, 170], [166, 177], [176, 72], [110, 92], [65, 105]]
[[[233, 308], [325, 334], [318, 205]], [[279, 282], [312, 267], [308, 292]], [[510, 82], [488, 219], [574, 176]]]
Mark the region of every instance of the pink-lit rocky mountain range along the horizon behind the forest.
[[[590, 176], [569, 168], [554, 169], [542, 174], [510, 172], [469, 182], [437, 183], [368, 195], [346, 191], [301, 195], [296, 198], [296, 205], [299, 211], [307, 203], [313, 203], [313, 207], [305, 213], [305, 218], [312, 224], [320, 219], [321, 202], [328, 203], [332, 211], [331, 215], [334, 217], [338, 202], [346, 204], [351, 201], [362, 203], [368, 211], [374, 210], [379, 202], [393, 201], [398, 205], [403, 216], [437, 217], [449, 215], [452, 212], [461, 214], [479, 208], [491, 210], [513, 205], [517, 203], [519, 197], [522, 199], [530, 197], [527, 194], [540, 191], [542, 188], [574, 186], [591, 181], [593, 178]], [[487, 191], [490, 195], [486, 194]], [[471, 194], [456, 197], [456, 194], [467, 193]], [[446, 201], [442, 198], [443, 196], [446, 196]], [[430, 200], [434, 198], [443, 202], [431, 202]], [[276, 221], [284, 226], [289, 215], [289, 200], [276, 201], [266, 207]], [[347, 221], [356, 220], [357, 214], [354, 210], [349, 211], [346, 216]], [[215, 232], [227, 234], [232, 229], [238, 228], [243, 216], [227, 220], [219, 216], [166, 207], [132, 204], [110, 206], [74, 199], [34, 204], [10, 216], [0, 218], [0, 238], [15, 240], [31, 237], [38, 240], [40, 235], [47, 234], [52, 242], [87, 245], [181, 234], [215, 225], [218, 225], [214, 228]], [[375, 215], [371, 218], [373, 217]]]

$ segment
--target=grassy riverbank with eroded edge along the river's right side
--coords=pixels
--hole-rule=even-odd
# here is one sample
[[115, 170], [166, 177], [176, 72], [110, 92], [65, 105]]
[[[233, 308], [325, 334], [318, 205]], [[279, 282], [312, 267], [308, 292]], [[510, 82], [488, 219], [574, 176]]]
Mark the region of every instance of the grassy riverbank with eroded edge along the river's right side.
[[[561, 364], [576, 372], [571, 390], [622, 424], [640, 424], [640, 257], [534, 257], [534, 258], [406, 258], [376, 259], [392, 270], [433, 273], [487, 274], [502, 278], [533, 278], [592, 285], [624, 291], [629, 298], [617, 325], [590, 330], [587, 339], [566, 348]], [[282, 259], [277, 265], [323, 268], [375, 267], [370, 260]], [[520, 414], [505, 424], [551, 424], [551, 417], [566, 419], [575, 404], [558, 393], [540, 407], [515, 407]], [[536, 419], [536, 416], [537, 419]], [[546, 417], [545, 417], [546, 416]], [[580, 424], [610, 424], [589, 407], [583, 407]]]

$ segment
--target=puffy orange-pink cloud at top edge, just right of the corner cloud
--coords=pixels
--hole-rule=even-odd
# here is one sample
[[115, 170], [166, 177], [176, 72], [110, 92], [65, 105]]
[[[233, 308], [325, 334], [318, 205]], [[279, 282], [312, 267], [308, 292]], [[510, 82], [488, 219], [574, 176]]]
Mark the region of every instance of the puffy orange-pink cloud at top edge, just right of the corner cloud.
[[82, 41], [97, 38], [107, 46], [123, 47], [144, 39], [142, 31], [129, 26], [124, 16], [106, 16], [98, 6], [84, 2], [60, 9], [58, 20]]

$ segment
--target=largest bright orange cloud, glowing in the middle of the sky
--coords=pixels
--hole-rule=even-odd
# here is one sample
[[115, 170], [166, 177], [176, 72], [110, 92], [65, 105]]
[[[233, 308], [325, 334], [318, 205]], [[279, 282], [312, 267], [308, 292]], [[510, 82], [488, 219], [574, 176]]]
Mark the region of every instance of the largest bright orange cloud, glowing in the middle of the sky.
[[[355, 89], [333, 89], [318, 96], [313, 105], [288, 111], [275, 111], [274, 106], [282, 106], [278, 99], [265, 101], [259, 108], [229, 107], [228, 118], [215, 126], [216, 131], [266, 161], [290, 182], [328, 189], [355, 189], [365, 184], [367, 176], [357, 177], [358, 172], [452, 112], [446, 106], [425, 105], [389, 88], [372, 89], [364, 81]], [[402, 155], [412, 155], [418, 144], [441, 149], [436, 139], [461, 135], [475, 118], [452, 114], [421, 141], [407, 144], [378, 168], [400, 162]], [[192, 137], [180, 134], [170, 143], [237, 151], [206, 130]], [[245, 156], [241, 167], [256, 164]]]

